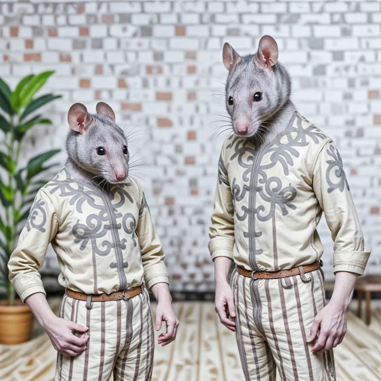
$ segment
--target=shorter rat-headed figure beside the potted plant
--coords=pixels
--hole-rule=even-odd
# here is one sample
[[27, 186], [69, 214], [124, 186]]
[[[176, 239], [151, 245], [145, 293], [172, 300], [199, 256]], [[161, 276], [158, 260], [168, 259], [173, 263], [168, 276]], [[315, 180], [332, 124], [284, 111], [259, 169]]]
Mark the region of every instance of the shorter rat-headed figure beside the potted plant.
[[[159, 344], [176, 337], [168, 274], [144, 193], [128, 176], [127, 141], [110, 106], [96, 114], [69, 109], [68, 159], [37, 193], [8, 267], [20, 298], [30, 306], [58, 350], [58, 381], [150, 380], [154, 293]], [[59, 316], [45, 298], [38, 269], [51, 243], [59, 283], [66, 288]]]

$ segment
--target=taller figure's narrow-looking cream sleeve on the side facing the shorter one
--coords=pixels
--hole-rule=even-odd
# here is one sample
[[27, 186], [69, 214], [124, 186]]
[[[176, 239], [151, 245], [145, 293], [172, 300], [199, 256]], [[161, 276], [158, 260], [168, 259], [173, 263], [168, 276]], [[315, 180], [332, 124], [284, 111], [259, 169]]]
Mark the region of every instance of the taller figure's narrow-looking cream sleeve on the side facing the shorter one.
[[218, 162], [218, 179], [214, 210], [209, 228], [208, 248], [212, 259], [223, 256], [233, 259], [234, 248], [234, 204], [225, 166], [225, 144]]

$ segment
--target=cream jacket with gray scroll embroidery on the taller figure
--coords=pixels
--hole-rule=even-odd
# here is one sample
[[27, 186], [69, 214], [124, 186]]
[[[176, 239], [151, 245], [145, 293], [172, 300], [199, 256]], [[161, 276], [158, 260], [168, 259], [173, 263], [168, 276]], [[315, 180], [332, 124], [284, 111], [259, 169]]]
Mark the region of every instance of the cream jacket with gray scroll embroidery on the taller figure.
[[253, 270], [312, 263], [323, 254], [316, 226], [325, 213], [334, 271], [362, 275], [370, 251], [333, 140], [299, 113], [274, 143], [258, 150], [231, 134], [224, 141], [209, 250]]

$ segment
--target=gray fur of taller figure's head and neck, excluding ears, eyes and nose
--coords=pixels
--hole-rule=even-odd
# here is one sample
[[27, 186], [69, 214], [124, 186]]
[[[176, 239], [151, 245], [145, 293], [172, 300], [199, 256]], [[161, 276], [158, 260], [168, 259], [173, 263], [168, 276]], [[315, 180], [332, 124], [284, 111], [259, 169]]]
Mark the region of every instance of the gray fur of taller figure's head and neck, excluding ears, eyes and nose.
[[[256, 92], [262, 93], [259, 102], [253, 101]], [[287, 127], [295, 112], [290, 101], [291, 80], [287, 70], [279, 62], [265, 70], [255, 54], [239, 57], [227, 77], [225, 93], [226, 110], [234, 133], [253, 137], [258, 144], [267, 144], [275, 138]], [[233, 105], [228, 104], [230, 96], [234, 100]], [[239, 120], [249, 124], [244, 135], [237, 132]]]

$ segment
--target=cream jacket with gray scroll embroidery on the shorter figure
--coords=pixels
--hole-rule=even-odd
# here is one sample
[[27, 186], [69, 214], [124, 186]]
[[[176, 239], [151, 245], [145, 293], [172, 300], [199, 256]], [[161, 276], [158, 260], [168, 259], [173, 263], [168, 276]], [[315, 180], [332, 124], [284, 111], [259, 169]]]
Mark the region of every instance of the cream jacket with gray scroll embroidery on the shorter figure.
[[164, 253], [138, 182], [102, 191], [64, 167], [42, 187], [13, 251], [10, 280], [24, 300], [43, 292], [38, 269], [51, 242], [59, 283], [86, 294], [168, 283]]

